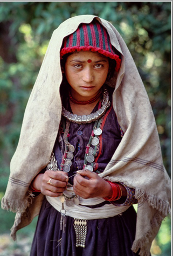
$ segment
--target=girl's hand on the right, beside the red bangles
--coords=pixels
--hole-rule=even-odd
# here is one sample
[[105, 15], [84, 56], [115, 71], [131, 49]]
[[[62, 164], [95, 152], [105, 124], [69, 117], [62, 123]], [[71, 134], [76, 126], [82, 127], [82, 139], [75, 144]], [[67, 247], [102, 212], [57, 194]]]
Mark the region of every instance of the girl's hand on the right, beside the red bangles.
[[112, 196], [110, 184], [89, 170], [81, 170], [80, 174], [75, 175], [73, 189], [76, 195], [84, 199]]

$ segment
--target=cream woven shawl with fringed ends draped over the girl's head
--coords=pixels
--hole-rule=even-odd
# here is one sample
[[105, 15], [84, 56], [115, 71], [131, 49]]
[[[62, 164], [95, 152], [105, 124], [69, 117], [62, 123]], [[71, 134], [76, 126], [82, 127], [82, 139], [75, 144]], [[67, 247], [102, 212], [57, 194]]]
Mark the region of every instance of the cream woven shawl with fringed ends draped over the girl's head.
[[[95, 16], [82, 15], [66, 20], [50, 40], [43, 64], [24, 114], [3, 209], [17, 212], [12, 237], [38, 215], [43, 195], [32, 198], [27, 189], [33, 179], [49, 163], [61, 119], [59, 87], [62, 80], [60, 47], [65, 36], [80, 23], [90, 23]], [[162, 162], [160, 142], [150, 102], [134, 60], [115, 27], [96, 17], [106, 27], [112, 45], [122, 54], [115, 87], [113, 107], [124, 136], [101, 177], [124, 182], [135, 188], [138, 199], [136, 237], [132, 250], [148, 256], [151, 242], [162, 219], [170, 212], [170, 179]]]

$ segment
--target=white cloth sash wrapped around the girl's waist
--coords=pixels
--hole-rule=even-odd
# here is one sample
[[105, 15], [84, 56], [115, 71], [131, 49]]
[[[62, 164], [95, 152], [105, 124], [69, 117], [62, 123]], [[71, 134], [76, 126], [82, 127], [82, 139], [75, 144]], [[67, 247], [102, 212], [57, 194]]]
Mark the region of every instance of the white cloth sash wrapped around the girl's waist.
[[[72, 188], [64, 191], [64, 195], [70, 197], [73, 194]], [[60, 212], [62, 209], [62, 203], [59, 197], [46, 196], [47, 201]], [[120, 215], [122, 212], [126, 211], [130, 206], [115, 206], [113, 204], [105, 204], [101, 207], [96, 207], [94, 209], [86, 207], [85, 205], [96, 205], [104, 202], [105, 200], [100, 197], [84, 199], [79, 197], [80, 204], [67, 206], [64, 203], [64, 210], [66, 211], [66, 216], [77, 219], [104, 219], [109, 217], [114, 217]]]

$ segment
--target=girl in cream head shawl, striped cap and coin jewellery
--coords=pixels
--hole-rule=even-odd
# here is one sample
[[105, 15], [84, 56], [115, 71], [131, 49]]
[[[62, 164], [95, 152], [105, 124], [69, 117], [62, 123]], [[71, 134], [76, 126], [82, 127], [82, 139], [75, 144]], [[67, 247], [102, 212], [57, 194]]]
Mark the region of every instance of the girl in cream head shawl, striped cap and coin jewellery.
[[99, 17], [66, 20], [11, 161], [2, 200], [17, 212], [11, 236], [39, 213], [31, 256], [150, 255], [169, 201], [154, 115], [126, 44]]

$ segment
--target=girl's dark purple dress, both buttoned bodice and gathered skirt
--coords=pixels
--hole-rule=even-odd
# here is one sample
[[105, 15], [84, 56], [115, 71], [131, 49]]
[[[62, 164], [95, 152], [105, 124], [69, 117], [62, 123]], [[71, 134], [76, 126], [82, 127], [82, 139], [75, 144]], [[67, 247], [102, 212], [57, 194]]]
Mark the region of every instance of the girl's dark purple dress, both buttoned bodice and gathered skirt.
[[[70, 106], [66, 106], [68, 110]], [[98, 105], [93, 109], [95, 112]], [[110, 161], [122, 137], [113, 107], [102, 117], [100, 143], [95, 148], [93, 171], [102, 172]], [[85, 148], [92, 133], [93, 122], [87, 124], [70, 124], [68, 141], [75, 147], [71, 171], [81, 170], [84, 164]], [[60, 133], [63, 133], [61, 126]], [[62, 134], [63, 135], [63, 134]], [[54, 146], [54, 154], [60, 163], [64, 145], [59, 146], [58, 139]], [[94, 146], [93, 146], [94, 148]], [[73, 178], [70, 179], [73, 184]], [[109, 202], [106, 202], [109, 203]], [[127, 200], [125, 202], [125, 205]], [[99, 206], [98, 207], [99, 211]], [[131, 250], [135, 239], [136, 212], [133, 206], [118, 215], [105, 219], [88, 220], [86, 247], [76, 247], [76, 236], [73, 218], [66, 216], [65, 233], [60, 230], [60, 213], [45, 199], [40, 210], [36, 233], [34, 235], [30, 256], [136, 256]]]

